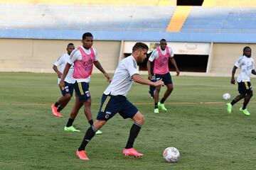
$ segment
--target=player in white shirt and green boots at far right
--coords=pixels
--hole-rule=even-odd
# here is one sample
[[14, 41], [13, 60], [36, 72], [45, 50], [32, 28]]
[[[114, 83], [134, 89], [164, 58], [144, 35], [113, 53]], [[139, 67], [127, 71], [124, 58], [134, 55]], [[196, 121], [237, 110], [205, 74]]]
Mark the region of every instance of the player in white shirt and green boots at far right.
[[252, 98], [252, 86], [250, 84], [250, 74], [255, 74], [255, 67], [254, 67], [254, 60], [251, 57], [252, 50], [250, 47], [244, 47], [242, 57], [235, 62], [235, 66], [232, 70], [232, 77], [231, 77], [231, 84], [235, 84], [235, 70], [240, 68], [240, 74], [238, 75], [238, 91], [239, 95], [236, 96], [231, 103], [227, 103], [228, 113], [232, 112], [232, 106], [240, 101], [242, 98], [244, 102], [242, 104], [242, 108], [240, 108], [240, 112], [244, 113], [245, 115], [250, 115], [250, 112], [247, 111], [246, 106]]

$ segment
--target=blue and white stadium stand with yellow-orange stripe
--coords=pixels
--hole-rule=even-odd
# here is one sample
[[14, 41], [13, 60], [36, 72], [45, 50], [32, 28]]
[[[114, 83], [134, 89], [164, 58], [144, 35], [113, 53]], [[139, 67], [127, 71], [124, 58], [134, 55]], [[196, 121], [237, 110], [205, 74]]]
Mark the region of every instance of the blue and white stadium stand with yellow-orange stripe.
[[0, 4], [0, 38], [256, 42], [256, 8]]

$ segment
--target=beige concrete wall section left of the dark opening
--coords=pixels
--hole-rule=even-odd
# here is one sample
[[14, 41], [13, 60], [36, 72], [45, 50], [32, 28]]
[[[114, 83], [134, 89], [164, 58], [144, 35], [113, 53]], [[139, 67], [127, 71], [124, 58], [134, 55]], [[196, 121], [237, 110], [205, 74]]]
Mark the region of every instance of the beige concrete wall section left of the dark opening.
[[[81, 45], [80, 40], [0, 39], [0, 72], [53, 72], [53, 63], [69, 42]], [[94, 42], [102, 67], [110, 72], [117, 67], [120, 46], [119, 41]]]

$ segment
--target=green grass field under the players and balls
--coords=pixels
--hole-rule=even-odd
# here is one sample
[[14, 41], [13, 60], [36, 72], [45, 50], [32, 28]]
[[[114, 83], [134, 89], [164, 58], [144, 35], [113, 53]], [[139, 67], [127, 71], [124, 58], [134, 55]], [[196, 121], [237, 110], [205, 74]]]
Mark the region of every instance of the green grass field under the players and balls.
[[[256, 169], [255, 98], [247, 107], [249, 117], [238, 111], [241, 102], [226, 113], [222, 94], [238, 94], [230, 78], [173, 77], [169, 111], [159, 114], [153, 113], [148, 86], [134, 83], [127, 98], [146, 119], [134, 147], [145, 157], [122, 157], [132, 120], [116, 115], [87, 146], [89, 162], [75, 157], [88, 128], [83, 112], [74, 123], [82, 132], [63, 130], [73, 100], [64, 118], [51, 113], [50, 104], [60, 96], [55, 74], [0, 73], [0, 78], [0, 169]], [[101, 74], [92, 76], [94, 118], [106, 87]], [[162, 158], [166, 147], [181, 153], [176, 164]]]

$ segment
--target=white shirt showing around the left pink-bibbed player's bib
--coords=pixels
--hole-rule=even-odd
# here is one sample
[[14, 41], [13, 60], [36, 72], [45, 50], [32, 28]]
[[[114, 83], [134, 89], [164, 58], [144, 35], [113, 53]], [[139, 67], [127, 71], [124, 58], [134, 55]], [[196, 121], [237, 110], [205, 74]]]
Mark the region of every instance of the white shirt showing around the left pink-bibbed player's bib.
[[[85, 49], [84, 47], [82, 47], [82, 45], [80, 46], [81, 48], [82, 48], [82, 50], [84, 50], [85, 51], [85, 54], [87, 54], [87, 55], [90, 55], [90, 49], [89, 50], [87, 50], [87, 49]], [[95, 61], [97, 61], [98, 60], [98, 56], [97, 56], [97, 51], [95, 50], [95, 48], [92, 48], [92, 50], [93, 50], [93, 52], [95, 53]], [[80, 61], [80, 60], [82, 60], [82, 54], [81, 54], [81, 52], [80, 52], [80, 50], [78, 50], [78, 48], [76, 48], [75, 50], [73, 50], [73, 52], [71, 52], [71, 54], [70, 54], [70, 60], [68, 60], [68, 64], [74, 64], [74, 62], [76, 61], [76, 60], [78, 60], [78, 61]], [[75, 79], [75, 78], [74, 78]], [[87, 77], [86, 79], [75, 79], [76, 81], [78, 81], [78, 83], [79, 82], [86, 82], [86, 83], [89, 83], [89, 81], [90, 81], [90, 77]]]

